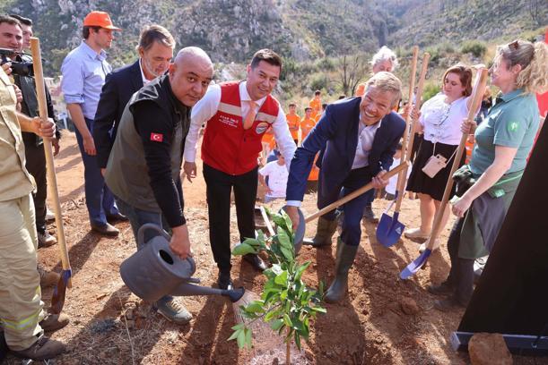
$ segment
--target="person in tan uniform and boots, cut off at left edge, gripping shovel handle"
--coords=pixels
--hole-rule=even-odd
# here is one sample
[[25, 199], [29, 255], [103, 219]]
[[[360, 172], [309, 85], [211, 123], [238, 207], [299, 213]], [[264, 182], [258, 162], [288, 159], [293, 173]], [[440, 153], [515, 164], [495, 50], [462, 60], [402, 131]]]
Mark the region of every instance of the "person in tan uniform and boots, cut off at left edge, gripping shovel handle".
[[65, 351], [65, 344], [43, 333], [64, 327], [68, 318], [42, 310], [36, 271], [38, 239], [30, 195], [35, 186], [25, 168], [21, 132], [51, 138], [55, 124], [51, 119], [40, 123], [39, 118], [16, 112], [10, 72], [9, 64], [0, 68], [0, 326], [5, 343], [15, 355], [43, 360]]

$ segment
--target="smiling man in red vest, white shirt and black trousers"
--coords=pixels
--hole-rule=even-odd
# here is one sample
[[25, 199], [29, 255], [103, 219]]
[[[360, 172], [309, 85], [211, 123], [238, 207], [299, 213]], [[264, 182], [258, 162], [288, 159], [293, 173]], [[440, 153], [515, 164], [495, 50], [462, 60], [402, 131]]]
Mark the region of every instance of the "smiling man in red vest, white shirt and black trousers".
[[[261, 139], [270, 128], [289, 167], [295, 152], [285, 114], [270, 95], [282, 72], [282, 59], [270, 49], [261, 49], [248, 64], [247, 81], [222, 82], [211, 86], [192, 108], [192, 122], [185, 143], [184, 170], [188, 181], [196, 177], [196, 142], [206, 123], [202, 142], [204, 179], [207, 185], [209, 239], [213, 259], [219, 267], [218, 284], [231, 282], [231, 191], [234, 189], [239, 240], [255, 237], [257, 157]], [[265, 263], [257, 255], [244, 256], [257, 270]]]

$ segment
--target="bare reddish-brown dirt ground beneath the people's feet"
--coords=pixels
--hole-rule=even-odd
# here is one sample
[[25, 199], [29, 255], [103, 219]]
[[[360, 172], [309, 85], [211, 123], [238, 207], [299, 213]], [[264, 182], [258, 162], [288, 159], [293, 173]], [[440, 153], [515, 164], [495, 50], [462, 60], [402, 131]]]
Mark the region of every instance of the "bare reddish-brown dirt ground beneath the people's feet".
[[[181, 298], [194, 318], [186, 326], [177, 326], [130, 293], [118, 274], [118, 267], [135, 252], [133, 234], [127, 223], [117, 225], [121, 233], [114, 239], [91, 232], [83, 199], [83, 165], [72, 133], [65, 132], [56, 165], [73, 287], [67, 290], [64, 309], [71, 323], [52, 335], [67, 344], [68, 352], [55, 363], [257, 363], [253, 361], [257, 352], [241, 351], [234, 341], [226, 341], [236, 322], [232, 305], [224, 298]], [[197, 264], [195, 276], [201, 278], [204, 285], [213, 285], [217, 269], [209, 247], [205, 184], [201, 166], [198, 167], [195, 182], [184, 183], [185, 215]], [[315, 211], [315, 199], [313, 194], [305, 198], [306, 212]], [[269, 207], [282, 205], [283, 202], [278, 201]], [[386, 200], [374, 202], [378, 215], [386, 206]], [[237, 242], [234, 209], [231, 213], [231, 242]], [[404, 199], [400, 221], [407, 226], [418, 225], [418, 200]], [[315, 226], [314, 223], [307, 226], [309, 235], [314, 233]], [[49, 228], [55, 232], [53, 225]], [[361, 247], [350, 274], [350, 293], [342, 303], [326, 305], [327, 314], [318, 317], [312, 325], [309, 343], [304, 344], [300, 355], [309, 364], [468, 363], [467, 354], [454, 352], [448, 343], [463, 311], [441, 313], [433, 309], [436, 298], [425, 290], [427, 284], [439, 283], [448, 274], [447, 237], [448, 228], [442, 233], [441, 250], [433, 254], [428, 267], [412, 279], [402, 281], [398, 274], [417, 257], [418, 244], [403, 238], [392, 248], [384, 248], [375, 240], [375, 225], [363, 224]], [[39, 261], [56, 271], [61, 269], [58, 257], [57, 245], [39, 250]], [[335, 245], [331, 250], [305, 246], [299, 259], [313, 263], [304, 276], [307, 283], [332, 281]], [[232, 259], [232, 264], [235, 284], [258, 293], [264, 277], [239, 258]], [[46, 303], [51, 293], [51, 289], [44, 291]], [[404, 298], [416, 301], [417, 314], [404, 314], [401, 307]], [[254, 341], [258, 344], [261, 338], [256, 337]], [[271, 355], [277, 352], [274, 349]], [[544, 359], [518, 356], [514, 360], [518, 364], [547, 363]], [[268, 363], [283, 361], [280, 357], [279, 362]], [[20, 363], [13, 357], [7, 362]]]

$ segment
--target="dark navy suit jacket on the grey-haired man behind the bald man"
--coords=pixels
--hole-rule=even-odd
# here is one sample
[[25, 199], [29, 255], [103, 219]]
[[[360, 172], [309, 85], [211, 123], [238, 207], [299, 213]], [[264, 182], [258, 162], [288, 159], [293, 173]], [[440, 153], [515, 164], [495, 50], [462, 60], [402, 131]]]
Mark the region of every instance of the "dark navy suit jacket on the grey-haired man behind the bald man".
[[110, 149], [116, 138], [118, 123], [127, 102], [141, 88], [143, 88], [143, 76], [139, 60], [107, 75], [93, 123], [93, 140], [100, 168], [107, 167]]

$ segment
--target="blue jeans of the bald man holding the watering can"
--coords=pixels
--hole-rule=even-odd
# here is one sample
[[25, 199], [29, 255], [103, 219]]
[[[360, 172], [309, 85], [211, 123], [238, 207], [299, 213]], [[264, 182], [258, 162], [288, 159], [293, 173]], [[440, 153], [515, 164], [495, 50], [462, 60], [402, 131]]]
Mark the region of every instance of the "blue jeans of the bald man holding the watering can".
[[[164, 224], [162, 222], [165, 221], [163, 219], [163, 216], [161, 213], [155, 213], [139, 208], [135, 208], [134, 206], [131, 206], [126, 203], [126, 201], [119, 199], [116, 197], [116, 203], [118, 208], [120, 209], [120, 212], [127, 216], [129, 219], [129, 224], [131, 225], [131, 229], [135, 236], [135, 244], [137, 245], [137, 250], [141, 250], [144, 247], [145, 242], [149, 242], [153, 237], [157, 236], [158, 233], [156, 231], [152, 231], [151, 229], [146, 230], [144, 232], [144, 242], [138, 242], [137, 241], [137, 232], [139, 232], [139, 228], [141, 228], [143, 225], [147, 223], [153, 223], [154, 225], [158, 225], [161, 228], [163, 228]], [[169, 225], [165, 225], [168, 227]], [[158, 301], [156, 301], [157, 304], [165, 304], [168, 301], [171, 301], [173, 297], [171, 295], [165, 295], [161, 297]]]

